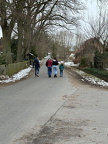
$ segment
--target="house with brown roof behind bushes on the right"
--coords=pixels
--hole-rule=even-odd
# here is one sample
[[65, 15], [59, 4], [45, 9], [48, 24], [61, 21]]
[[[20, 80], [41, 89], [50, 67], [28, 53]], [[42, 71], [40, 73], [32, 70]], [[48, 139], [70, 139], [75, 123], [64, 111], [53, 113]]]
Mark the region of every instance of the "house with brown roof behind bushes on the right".
[[87, 58], [88, 64], [94, 64], [95, 52], [98, 50], [103, 53], [103, 45], [98, 38], [90, 38], [86, 40], [80, 48], [76, 51], [76, 59], [80, 61], [82, 57]]

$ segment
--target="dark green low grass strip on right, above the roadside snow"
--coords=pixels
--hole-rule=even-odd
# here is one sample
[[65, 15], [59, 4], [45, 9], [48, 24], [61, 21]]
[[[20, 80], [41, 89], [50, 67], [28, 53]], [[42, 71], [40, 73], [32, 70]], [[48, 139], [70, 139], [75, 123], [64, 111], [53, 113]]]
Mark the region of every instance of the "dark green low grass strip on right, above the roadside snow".
[[83, 68], [82, 70], [108, 82], [108, 71], [106, 70], [100, 70], [96, 68]]

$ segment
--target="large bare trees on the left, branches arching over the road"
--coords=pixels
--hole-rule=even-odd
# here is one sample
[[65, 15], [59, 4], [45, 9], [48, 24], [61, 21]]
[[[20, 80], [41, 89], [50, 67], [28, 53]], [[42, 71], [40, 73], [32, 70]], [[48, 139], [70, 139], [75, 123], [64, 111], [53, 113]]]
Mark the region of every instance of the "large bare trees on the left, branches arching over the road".
[[12, 62], [11, 37], [18, 38], [17, 62], [36, 47], [43, 32], [77, 25], [78, 0], [0, 0], [0, 26], [6, 62]]

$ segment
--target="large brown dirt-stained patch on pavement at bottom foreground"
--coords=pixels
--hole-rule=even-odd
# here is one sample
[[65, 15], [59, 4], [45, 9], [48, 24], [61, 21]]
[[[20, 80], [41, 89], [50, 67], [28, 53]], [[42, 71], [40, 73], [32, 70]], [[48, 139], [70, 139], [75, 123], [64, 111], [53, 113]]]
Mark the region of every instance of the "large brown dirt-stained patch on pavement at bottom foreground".
[[86, 126], [87, 123], [88, 121], [82, 120], [52, 119], [37, 135], [32, 144], [61, 144], [71, 138], [80, 139], [83, 136], [83, 129], [81, 127]]

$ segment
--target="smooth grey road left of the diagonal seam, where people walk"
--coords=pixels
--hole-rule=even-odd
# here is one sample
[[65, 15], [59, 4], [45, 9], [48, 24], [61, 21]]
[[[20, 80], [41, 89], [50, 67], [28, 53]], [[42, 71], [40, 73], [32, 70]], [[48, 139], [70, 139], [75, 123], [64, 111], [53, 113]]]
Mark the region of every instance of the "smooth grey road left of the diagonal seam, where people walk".
[[41, 67], [39, 78], [33, 74], [0, 87], [0, 144], [16, 143], [30, 131], [38, 133], [75, 90], [66, 75], [48, 78], [45, 66]]

